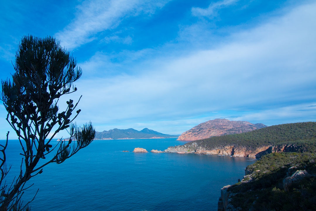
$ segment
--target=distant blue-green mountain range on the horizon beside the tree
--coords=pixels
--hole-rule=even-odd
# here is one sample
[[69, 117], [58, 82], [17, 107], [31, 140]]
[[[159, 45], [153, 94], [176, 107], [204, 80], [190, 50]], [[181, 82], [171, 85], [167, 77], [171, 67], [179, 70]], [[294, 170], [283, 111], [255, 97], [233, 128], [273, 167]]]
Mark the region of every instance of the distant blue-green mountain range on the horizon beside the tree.
[[144, 128], [141, 131], [135, 130], [133, 128], [129, 129], [117, 129], [114, 128], [109, 131], [95, 132], [96, 140], [100, 139], [153, 139], [153, 138], [172, 138], [178, 137], [179, 135], [169, 135], [159, 133], [148, 128]]

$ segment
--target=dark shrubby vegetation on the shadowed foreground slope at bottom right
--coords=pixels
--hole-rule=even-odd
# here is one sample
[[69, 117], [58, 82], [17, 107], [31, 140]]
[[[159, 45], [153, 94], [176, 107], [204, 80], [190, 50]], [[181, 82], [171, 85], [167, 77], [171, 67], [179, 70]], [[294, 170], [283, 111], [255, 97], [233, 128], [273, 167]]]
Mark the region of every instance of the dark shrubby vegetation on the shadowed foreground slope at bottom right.
[[[252, 174], [228, 188], [231, 205], [241, 210], [316, 210], [316, 154], [271, 153], [247, 166]], [[294, 167], [293, 167], [294, 166]], [[292, 167], [292, 168], [291, 168]], [[289, 169], [291, 168], [291, 169]], [[286, 191], [284, 179], [296, 170], [306, 170], [309, 177], [293, 183]]]

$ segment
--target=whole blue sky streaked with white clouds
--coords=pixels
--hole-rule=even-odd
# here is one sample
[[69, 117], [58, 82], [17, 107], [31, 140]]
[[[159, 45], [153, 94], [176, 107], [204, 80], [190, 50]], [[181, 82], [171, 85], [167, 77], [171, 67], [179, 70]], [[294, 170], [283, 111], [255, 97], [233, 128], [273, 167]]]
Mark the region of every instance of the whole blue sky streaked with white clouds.
[[[215, 118], [316, 121], [316, 2], [310, 0], [1, 1], [0, 77], [25, 35], [77, 59], [78, 125], [181, 134]], [[10, 131], [0, 105], [0, 139]], [[67, 137], [64, 131], [58, 137]]]

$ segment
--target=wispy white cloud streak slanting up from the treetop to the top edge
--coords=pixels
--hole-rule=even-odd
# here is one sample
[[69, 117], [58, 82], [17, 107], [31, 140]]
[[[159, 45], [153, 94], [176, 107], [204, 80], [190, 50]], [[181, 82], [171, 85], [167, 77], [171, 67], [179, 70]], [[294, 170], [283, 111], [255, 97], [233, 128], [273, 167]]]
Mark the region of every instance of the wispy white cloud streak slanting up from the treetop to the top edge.
[[[61, 45], [74, 49], [97, 39], [96, 34], [116, 28], [123, 18], [140, 14], [152, 14], [168, 0], [159, 3], [145, 0], [97, 0], [84, 1], [77, 7], [75, 19], [61, 32], [55, 34]], [[125, 42], [131, 42], [126, 40]]]

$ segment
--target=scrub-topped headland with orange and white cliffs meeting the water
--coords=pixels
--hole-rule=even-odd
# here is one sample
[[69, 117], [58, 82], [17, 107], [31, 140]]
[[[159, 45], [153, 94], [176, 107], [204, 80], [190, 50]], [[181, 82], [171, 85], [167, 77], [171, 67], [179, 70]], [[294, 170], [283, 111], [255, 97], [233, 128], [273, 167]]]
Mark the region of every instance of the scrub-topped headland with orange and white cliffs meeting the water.
[[168, 147], [165, 152], [260, 158], [271, 152], [316, 151], [316, 122], [275, 125]]

